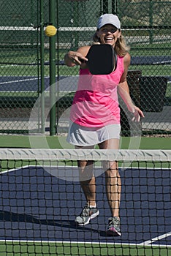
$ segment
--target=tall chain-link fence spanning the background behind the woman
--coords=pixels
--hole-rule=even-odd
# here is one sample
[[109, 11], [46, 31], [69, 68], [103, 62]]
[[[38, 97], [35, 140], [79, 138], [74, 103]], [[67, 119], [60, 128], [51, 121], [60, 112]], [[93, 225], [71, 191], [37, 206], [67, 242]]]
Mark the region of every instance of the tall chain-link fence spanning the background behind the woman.
[[[50, 20], [50, 5], [55, 17]], [[51, 6], [52, 7], [52, 6]], [[1, 132], [28, 132], [28, 120], [34, 102], [37, 118], [34, 130], [61, 134], [68, 127], [68, 111], [77, 88], [78, 67], [64, 65], [68, 50], [90, 45], [99, 15], [113, 12], [121, 20], [121, 30], [132, 56], [128, 82], [132, 99], [145, 112], [138, 129], [142, 134], [170, 134], [171, 131], [171, 1], [136, 0], [56, 0], [5, 1], [1, 4]], [[52, 10], [52, 8], [51, 8]], [[58, 33], [52, 51], [44, 28], [53, 23]], [[55, 60], [56, 109], [48, 114], [51, 98], [50, 58]], [[123, 111], [124, 112], [124, 111]], [[130, 121], [122, 113], [122, 132], [129, 134]], [[45, 121], [45, 124], [44, 124]], [[51, 128], [50, 128], [51, 129]]]

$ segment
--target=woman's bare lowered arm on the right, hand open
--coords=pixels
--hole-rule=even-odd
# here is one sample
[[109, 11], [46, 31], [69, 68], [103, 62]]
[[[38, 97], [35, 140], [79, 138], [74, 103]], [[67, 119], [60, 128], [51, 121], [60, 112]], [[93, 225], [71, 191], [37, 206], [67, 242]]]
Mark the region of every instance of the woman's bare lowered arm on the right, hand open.
[[130, 61], [131, 57], [129, 53], [127, 53], [126, 56], [124, 56], [124, 72], [118, 85], [118, 93], [121, 95], [121, 98], [126, 104], [128, 110], [134, 114], [134, 118], [132, 118], [132, 120], [140, 121], [140, 118], [144, 117], [144, 114], [142, 113], [142, 110], [140, 110], [140, 108], [137, 108], [137, 106], [135, 106], [132, 102], [132, 98], [129, 94], [129, 86], [126, 80]]

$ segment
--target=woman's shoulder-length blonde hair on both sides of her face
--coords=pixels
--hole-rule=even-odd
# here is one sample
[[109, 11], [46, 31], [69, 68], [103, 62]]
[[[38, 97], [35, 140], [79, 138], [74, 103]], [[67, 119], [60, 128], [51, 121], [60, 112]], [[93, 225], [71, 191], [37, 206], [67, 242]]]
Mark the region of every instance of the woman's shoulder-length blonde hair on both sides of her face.
[[[97, 37], [97, 34], [94, 34], [93, 37], [94, 40], [94, 44], [100, 44], [100, 39], [99, 37]], [[123, 35], [121, 34], [121, 36], [117, 39], [117, 41], [115, 42], [115, 53], [118, 54], [118, 56], [125, 56], [126, 53], [128, 53], [129, 51], [129, 46], [126, 45], [126, 41], [123, 37]]]

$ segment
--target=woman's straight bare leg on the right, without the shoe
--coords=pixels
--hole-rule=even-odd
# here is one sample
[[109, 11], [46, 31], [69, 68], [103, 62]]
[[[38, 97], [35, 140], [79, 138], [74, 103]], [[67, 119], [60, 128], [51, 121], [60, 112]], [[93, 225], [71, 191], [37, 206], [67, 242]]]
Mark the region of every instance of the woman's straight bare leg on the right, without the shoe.
[[[101, 149], [118, 149], [119, 140], [110, 139], [99, 144]], [[121, 178], [118, 173], [117, 162], [105, 162], [105, 182], [107, 200], [113, 217], [119, 217], [119, 206], [121, 200]]]

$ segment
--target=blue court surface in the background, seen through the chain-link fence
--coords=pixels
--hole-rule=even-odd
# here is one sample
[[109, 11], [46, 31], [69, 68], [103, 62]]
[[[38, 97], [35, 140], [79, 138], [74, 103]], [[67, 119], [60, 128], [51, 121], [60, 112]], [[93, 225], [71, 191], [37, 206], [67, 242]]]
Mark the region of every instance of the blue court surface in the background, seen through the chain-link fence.
[[[170, 64], [171, 56], [132, 56], [131, 65], [159, 65]], [[49, 63], [45, 63], [49, 65]], [[64, 65], [64, 61], [59, 61], [59, 65]], [[59, 76], [56, 81], [60, 91], [75, 91], [77, 89], [77, 76]], [[171, 82], [171, 76], [167, 76]], [[50, 78], [45, 77], [45, 89], [50, 86]], [[40, 81], [34, 76], [0, 76], [0, 91], [39, 91]]]

